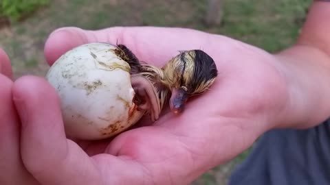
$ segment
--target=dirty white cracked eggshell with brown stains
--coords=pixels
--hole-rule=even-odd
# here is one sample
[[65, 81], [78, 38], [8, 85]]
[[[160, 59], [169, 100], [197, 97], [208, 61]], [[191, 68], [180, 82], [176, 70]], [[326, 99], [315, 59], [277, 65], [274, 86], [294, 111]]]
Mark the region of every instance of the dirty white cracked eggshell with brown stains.
[[133, 103], [130, 67], [106, 43], [67, 51], [46, 79], [61, 99], [65, 132], [70, 138], [98, 140], [123, 132], [143, 115]]

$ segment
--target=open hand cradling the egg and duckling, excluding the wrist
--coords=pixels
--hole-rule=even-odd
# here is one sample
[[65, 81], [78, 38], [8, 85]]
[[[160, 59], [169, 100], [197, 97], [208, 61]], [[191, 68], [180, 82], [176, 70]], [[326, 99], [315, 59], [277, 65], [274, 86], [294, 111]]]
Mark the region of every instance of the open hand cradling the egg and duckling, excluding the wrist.
[[150, 126], [113, 140], [65, 138], [56, 91], [40, 77], [14, 83], [21, 117], [21, 155], [41, 184], [189, 184], [226, 162], [287, 116], [285, 69], [269, 53], [227, 37], [190, 29], [113, 27], [59, 29], [47, 40], [50, 65], [87, 42], [124, 44], [140, 60], [164, 65], [180, 50], [203, 49], [219, 75], [207, 93], [190, 99], [180, 116], [164, 114]]

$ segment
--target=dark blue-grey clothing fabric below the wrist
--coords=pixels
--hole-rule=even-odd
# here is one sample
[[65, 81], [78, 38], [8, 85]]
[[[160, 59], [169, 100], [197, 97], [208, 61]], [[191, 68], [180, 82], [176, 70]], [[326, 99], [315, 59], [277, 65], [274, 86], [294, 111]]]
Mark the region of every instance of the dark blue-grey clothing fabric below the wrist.
[[267, 132], [229, 184], [330, 185], [330, 120], [308, 130]]

